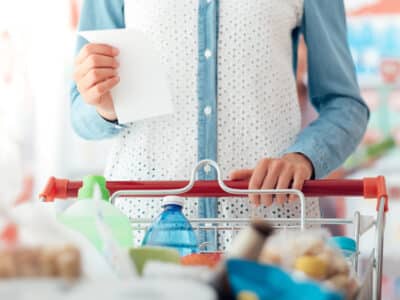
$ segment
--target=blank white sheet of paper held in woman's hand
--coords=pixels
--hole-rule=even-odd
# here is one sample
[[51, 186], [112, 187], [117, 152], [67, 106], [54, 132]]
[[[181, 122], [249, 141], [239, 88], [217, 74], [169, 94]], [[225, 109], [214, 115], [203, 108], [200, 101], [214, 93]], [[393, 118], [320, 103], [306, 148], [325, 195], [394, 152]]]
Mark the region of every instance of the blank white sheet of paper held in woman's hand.
[[90, 43], [119, 49], [120, 82], [111, 91], [121, 124], [173, 113], [172, 97], [160, 51], [135, 29], [81, 31]]

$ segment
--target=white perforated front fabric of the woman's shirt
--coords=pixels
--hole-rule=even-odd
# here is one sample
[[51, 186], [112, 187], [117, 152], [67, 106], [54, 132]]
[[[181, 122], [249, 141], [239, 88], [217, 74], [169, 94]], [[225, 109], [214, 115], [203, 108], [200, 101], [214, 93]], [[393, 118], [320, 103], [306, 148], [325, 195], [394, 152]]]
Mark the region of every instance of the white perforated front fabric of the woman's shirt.
[[[291, 31], [303, 0], [220, 1], [218, 42], [218, 164], [223, 173], [276, 157], [300, 130]], [[197, 161], [198, 0], [126, 0], [125, 22], [146, 32], [162, 53], [176, 113], [131, 124], [117, 138], [110, 180], [188, 179]], [[213, 112], [211, 112], [213, 113]], [[197, 216], [196, 201], [188, 205]], [[161, 202], [121, 199], [132, 218], [153, 218]], [[319, 216], [317, 200], [307, 215]], [[299, 203], [274, 204], [265, 217], [299, 216]], [[248, 199], [220, 199], [220, 218], [251, 215]], [[230, 235], [221, 235], [229, 242]]]

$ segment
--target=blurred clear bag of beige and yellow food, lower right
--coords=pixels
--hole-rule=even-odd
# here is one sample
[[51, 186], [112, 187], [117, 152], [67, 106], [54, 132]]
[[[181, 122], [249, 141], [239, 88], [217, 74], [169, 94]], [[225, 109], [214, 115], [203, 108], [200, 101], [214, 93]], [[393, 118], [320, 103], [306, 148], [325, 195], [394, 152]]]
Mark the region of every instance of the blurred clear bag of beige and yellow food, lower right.
[[[348, 245], [348, 238], [345, 240], [344, 245]], [[346, 257], [337, 247], [331, 246], [333, 241], [323, 230], [279, 232], [268, 239], [259, 260], [278, 265], [294, 275], [303, 274], [304, 279], [320, 281], [342, 292], [347, 299], [353, 299], [359, 284]]]

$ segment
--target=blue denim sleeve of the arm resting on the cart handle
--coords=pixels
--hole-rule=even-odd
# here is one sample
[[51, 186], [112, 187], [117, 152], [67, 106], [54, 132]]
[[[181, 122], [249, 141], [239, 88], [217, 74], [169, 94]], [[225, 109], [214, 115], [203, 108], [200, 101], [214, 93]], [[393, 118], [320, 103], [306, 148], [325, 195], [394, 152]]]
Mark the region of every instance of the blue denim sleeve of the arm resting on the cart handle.
[[314, 177], [322, 178], [360, 143], [369, 110], [360, 96], [348, 46], [343, 0], [305, 0], [301, 31], [308, 49], [310, 100], [319, 118], [285, 153], [307, 156]]

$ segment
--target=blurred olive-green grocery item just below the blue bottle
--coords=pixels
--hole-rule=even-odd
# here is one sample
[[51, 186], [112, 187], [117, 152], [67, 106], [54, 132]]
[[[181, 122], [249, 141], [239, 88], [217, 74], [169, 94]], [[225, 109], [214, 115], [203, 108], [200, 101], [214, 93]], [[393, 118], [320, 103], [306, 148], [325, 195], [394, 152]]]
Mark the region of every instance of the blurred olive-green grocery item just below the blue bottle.
[[145, 265], [150, 261], [179, 264], [179, 252], [172, 248], [141, 247], [129, 250], [129, 254], [136, 266], [139, 275], [143, 274]]

